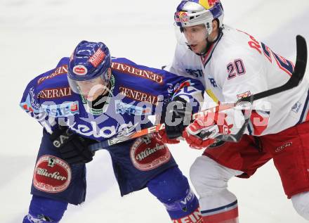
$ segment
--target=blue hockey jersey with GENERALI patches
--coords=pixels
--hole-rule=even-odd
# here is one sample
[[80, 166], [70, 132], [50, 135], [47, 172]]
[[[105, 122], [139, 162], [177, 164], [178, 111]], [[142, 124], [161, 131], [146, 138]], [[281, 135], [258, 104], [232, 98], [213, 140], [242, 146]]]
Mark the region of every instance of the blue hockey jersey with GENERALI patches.
[[102, 108], [93, 108], [70, 89], [69, 60], [62, 58], [55, 69], [32, 79], [20, 103], [49, 133], [57, 125], [65, 125], [81, 136], [101, 141], [129, 127], [138, 130], [149, 122], [148, 115], [160, 115], [175, 96], [190, 101], [193, 112], [202, 102], [204, 87], [196, 79], [112, 58], [109, 94]]

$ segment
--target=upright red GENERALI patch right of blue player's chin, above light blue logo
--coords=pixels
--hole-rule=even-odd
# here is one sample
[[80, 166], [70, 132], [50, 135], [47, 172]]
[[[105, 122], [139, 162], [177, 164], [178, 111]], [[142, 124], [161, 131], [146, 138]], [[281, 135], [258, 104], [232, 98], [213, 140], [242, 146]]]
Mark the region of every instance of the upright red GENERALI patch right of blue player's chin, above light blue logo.
[[135, 89], [129, 89], [126, 87], [119, 87], [120, 94], [123, 94], [124, 96], [131, 98], [133, 100], [137, 101], [144, 101], [147, 103], [152, 103], [153, 105], [157, 105], [158, 103], [158, 97], [154, 96], [152, 94], [147, 94], [143, 91], [137, 91]]

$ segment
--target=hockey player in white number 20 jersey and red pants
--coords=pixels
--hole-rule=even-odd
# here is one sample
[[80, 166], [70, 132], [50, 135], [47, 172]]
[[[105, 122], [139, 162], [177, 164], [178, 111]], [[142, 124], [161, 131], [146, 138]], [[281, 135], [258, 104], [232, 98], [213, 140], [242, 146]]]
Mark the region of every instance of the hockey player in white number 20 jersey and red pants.
[[[223, 25], [218, 0], [181, 1], [175, 23], [180, 32], [169, 70], [200, 79], [216, 103], [279, 87], [292, 75], [291, 61], [250, 34]], [[308, 88], [304, 79], [294, 89], [255, 101], [238, 143], [214, 138], [239, 130], [240, 110], [207, 113], [186, 127], [183, 137], [190, 147], [206, 148], [190, 168], [204, 222], [238, 222], [237, 198], [228, 191], [228, 180], [248, 178], [270, 159], [295, 210], [309, 219]], [[209, 136], [201, 134], [209, 129]], [[176, 137], [159, 134], [162, 141]]]

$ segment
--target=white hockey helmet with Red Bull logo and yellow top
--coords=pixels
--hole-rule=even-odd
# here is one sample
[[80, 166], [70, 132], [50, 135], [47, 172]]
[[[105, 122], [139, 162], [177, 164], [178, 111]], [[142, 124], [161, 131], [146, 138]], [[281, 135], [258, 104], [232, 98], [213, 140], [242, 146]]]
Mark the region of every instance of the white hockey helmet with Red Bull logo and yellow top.
[[212, 21], [218, 19], [223, 26], [223, 6], [220, 0], [184, 0], [174, 15], [175, 24], [181, 28], [204, 24], [208, 34], [212, 32]]

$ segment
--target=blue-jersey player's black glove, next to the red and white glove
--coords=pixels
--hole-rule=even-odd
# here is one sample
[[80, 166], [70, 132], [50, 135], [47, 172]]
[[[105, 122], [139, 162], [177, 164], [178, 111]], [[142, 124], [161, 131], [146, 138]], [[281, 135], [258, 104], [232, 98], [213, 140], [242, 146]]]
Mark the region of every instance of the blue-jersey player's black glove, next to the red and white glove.
[[162, 137], [167, 139], [177, 139], [183, 135], [185, 127], [190, 125], [192, 107], [185, 99], [180, 97], [173, 98], [173, 101], [166, 106], [164, 114], [165, 134]]

